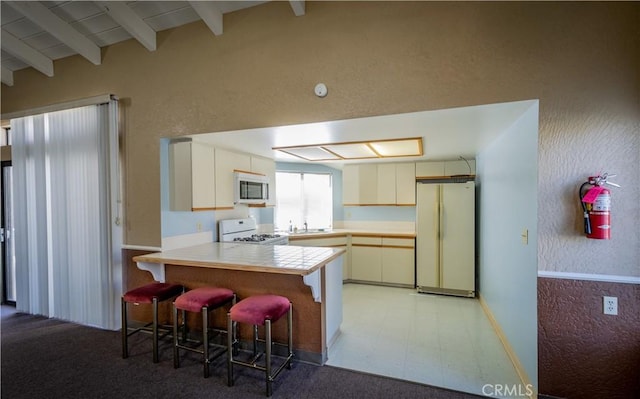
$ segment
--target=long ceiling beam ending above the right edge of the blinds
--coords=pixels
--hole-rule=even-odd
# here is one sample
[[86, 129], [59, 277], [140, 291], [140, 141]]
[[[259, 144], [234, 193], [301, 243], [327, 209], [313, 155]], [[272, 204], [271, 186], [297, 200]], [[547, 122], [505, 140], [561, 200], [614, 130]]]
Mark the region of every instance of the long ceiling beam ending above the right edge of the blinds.
[[37, 1], [5, 1], [27, 19], [95, 65], [100, 65], [100, 47]]

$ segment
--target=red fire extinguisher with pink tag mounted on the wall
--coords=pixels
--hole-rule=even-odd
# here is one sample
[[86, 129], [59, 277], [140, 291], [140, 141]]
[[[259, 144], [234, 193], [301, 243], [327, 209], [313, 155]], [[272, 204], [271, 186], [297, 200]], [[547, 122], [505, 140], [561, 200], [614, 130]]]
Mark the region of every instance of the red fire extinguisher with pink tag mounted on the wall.
[[584, 214], [584, 233], [587, 238], [608, 240], [611, 238], [611, 192], [605, 184], [620, 187], [608, 182], [615, 175], [590, 176], [580, 186], [580, 203]]

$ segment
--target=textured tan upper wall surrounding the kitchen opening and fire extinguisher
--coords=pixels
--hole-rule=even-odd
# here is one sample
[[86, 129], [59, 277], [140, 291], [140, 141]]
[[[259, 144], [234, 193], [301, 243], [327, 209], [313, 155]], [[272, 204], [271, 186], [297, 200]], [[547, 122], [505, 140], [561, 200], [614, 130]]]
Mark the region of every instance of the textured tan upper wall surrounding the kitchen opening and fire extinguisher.
[[[198, 132], [540, 99], [539, 268], [640, 276], [640, 4], [307, 3], [227, 14], [56, 61], [2, 113], [103, 93], [126, 104], [126, 243], [160, 245], [159, 141]], [[313, 94], [317, 82], [329, 96]], [[613, 239], [580, 236], [577, 189], [615, 172]]]

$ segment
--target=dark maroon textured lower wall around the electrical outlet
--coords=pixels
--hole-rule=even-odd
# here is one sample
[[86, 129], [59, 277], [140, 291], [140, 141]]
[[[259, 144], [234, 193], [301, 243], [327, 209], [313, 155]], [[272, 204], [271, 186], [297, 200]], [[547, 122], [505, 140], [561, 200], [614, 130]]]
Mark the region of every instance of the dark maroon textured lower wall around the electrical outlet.
[[[618, 316], [602, 296], [618, 297]], [[541, 393], [569, 399], [640, 397], [640, 285], [538, 279]]]

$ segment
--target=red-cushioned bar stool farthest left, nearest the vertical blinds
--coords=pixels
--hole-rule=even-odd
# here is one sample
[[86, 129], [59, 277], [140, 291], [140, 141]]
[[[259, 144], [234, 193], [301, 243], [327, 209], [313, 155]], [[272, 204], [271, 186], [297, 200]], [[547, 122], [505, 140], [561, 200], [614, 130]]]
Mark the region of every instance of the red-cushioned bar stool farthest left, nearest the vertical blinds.
[[[153, 362], [158, 363], [158, 332], [160, 330], [170, 332], [164, 326], [158, 325], [158, 303], [169, 300], [184, 292], [184, 288], [179, 284], [169, 283], [150, 283], [141, 287], [132, 289], [122, 295], [122, 358], [129, 357], [128, 338], [138, 332], [151, 333], [153, 336]], [[132, 328], [128, 326], [127, 320], [127, 304], [132, 303], [139, 305], [141, 303], [150, 303], [153, 309], [153, 320], [142, 327]], [[149, 327], [151, 326], [151, 327]], [[166, 335], [166, 334], [165, 334]]]

